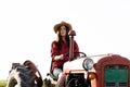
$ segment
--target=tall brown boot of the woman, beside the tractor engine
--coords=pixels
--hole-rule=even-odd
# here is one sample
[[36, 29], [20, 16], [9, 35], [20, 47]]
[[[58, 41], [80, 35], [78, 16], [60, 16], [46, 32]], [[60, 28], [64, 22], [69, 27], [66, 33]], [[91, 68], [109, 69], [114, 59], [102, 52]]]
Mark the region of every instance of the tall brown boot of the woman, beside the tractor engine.
[[60, 74], [55, 87], [64, 87], [65, 79], [66, 79], [66, 75], [64, 73]]

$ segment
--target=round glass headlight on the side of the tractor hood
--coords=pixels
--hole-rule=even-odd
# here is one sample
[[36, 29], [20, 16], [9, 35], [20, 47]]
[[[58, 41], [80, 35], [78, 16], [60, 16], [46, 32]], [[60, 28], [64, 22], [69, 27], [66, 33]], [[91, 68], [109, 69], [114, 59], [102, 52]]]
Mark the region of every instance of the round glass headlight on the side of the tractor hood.
[[93, 60], [87, 58], [83, 60], [82, 66], [84, 70], [91, 70], [93, 67], [93, 64], [94, 64]]

